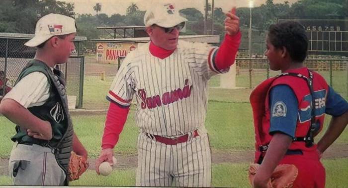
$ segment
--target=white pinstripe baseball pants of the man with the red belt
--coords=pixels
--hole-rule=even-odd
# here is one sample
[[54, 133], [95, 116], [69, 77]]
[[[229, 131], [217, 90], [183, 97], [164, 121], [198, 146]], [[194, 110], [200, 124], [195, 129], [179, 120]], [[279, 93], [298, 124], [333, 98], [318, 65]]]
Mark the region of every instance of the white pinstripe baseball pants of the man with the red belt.
[[211, 153], [207, 134], [176, 145], [138, 136], [136, 186], [210, 187]]

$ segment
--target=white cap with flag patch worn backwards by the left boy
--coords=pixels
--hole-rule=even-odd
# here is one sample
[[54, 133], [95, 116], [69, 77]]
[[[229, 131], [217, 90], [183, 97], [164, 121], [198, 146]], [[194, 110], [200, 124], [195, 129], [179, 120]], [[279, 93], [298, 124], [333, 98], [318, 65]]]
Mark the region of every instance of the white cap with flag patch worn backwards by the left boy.
[[40, 18], [35, 27], [35, 36], [24, 45], [36, 47], [49, 38], [76, 33], [75, 19], [62, 14], [47, 14]]

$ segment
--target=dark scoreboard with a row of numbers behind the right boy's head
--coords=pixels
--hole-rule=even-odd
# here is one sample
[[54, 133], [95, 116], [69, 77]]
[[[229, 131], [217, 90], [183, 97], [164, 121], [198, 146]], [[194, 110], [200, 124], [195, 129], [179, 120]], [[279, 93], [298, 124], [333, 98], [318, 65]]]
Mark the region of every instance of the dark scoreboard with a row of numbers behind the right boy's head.
[[313, 55], [348, 55], [348, 19], [279, 19], [298, 21], [306, 29], [308, 52]]

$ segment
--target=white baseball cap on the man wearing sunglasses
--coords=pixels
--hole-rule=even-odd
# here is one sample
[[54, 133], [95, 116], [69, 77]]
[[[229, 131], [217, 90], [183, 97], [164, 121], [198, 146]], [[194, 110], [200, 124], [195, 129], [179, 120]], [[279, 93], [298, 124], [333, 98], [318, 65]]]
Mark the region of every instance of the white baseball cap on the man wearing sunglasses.
[[156, 24], [161, 27], [174, 27], [175, 25], [187, 21], [178, 11], [175, 10], [172, 3], [160, 5], [151, 5], [144, 16], [146, 27]]

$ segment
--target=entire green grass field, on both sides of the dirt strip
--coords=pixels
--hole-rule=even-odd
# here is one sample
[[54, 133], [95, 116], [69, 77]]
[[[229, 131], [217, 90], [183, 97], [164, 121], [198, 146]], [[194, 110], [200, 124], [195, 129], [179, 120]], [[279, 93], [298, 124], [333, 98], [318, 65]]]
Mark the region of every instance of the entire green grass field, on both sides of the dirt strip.
[[[275, 74], [271, 72], [271, 75]], [[346, 73], [339, 72], [334, 78], [334, 88], [340, 93], [345, 93]], [[264, 80], [265, 72], [253, 75], [253, 86]], [[325, 75], [325, 77], [328, 75]], [[84, 108], [107, 109], [108, 101], [105, 95], [112, 82], [112, 76], [100, 80], [100, 76], [86, 76], [84, 85]], [[214, 77], [210, 86], [219, 86], [219, 76]], [[337, 86], [336, 86], [337, 85]], [[237, 86], [249, 87], [249, 75], [237, 76]], [[209, 103], [206, 119], [206, 128], [209, 132], [211, 148], [213, 151], [251, 151], [254, 148], [254, 127], [252, 109], [249, 104], [251, 89], [209, 89]], [[96, 158], [100, 152], [100, 142], [104, 127], [105, 115], [80, 115], [72, 116], [75, 131], [81, 142], [88, 150], [89, 157]], [[329, 123], [327, 116], [325, 128]], [[325, 129], [324, 128], [324, 129]], [[14, 125], [4, 117], [0, 117], [0, 157], [8, 158], [12, 147], [10, 136], [14, 134]], [[323, 135], [317, 136], [316, 140]], [[115, 153], [124, 156], [136, 154], [136, 139], [138, 127], [134, 123], [134, 106], [132, 106], [127, 123], [120, 135]], [[348, 131], [345, 131], [335, 144], [347, 144]], [[348, 185], [348, 158], [326, 159], [323, 164], [327, 169], [327, 187], [344, 188]], [[213, 187], [249, 187], [247, 182], [247, 168], [249, 163], [220, 163], [213, 164]], [[10, 185], [10, 178], [0, 176], [0, 185]], [[134, 186], [135, 168], [116, 169], [108, 177], [96, 176], [95, 172], [87, 173], [72, 186]]]

